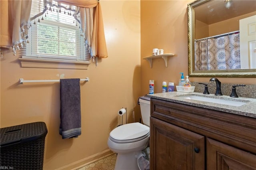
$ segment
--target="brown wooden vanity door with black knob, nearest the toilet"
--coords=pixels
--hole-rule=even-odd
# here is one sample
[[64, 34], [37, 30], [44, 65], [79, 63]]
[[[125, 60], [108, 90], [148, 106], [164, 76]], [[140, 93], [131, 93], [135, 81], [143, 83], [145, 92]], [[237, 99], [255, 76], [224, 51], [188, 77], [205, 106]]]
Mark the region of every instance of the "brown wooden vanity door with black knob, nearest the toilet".
[[150, 117], [150, 170], [204, 170], [204, 136]]

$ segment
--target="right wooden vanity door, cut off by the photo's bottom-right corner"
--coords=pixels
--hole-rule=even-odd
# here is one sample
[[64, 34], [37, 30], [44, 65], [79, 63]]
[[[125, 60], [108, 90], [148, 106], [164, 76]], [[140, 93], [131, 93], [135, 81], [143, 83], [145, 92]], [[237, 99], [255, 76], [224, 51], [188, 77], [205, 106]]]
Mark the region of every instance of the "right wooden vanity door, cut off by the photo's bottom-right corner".
[[256, 170], [256, 155], [207, 138], [207, 170]]

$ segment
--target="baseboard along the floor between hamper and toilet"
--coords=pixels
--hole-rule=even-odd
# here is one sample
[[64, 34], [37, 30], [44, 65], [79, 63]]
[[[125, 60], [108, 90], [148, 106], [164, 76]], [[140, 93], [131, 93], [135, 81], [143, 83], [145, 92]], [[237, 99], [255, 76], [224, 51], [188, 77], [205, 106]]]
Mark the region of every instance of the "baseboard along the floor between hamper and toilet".
[[96, 162], [98, 160], [101, 160], [105, 157], [108, 157], [110, 155], [114, 154], [114, 152], [112, 152], [110, 149], [104, 150], [100, 153], [94, 154], [92, 156], [88, 156], [84, 159], [78, 160], [76, 162], [73, 162], [71, 164], [62, 166], [60, 168], [57, 168], [56, 170], [77, 170], [79, 168], [82, 168], [88, 164], [91, 164], [93, 162]]

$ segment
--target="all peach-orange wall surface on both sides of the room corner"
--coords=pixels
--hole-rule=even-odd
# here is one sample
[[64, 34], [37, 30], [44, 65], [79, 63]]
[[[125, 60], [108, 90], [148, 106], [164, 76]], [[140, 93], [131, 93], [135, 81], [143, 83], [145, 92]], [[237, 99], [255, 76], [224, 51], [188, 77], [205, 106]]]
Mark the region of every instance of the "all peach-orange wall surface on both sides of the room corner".
[[[21, 68], [12, 53], [1, 59], [1, 120], [7, 127], [44, 121], [48, 127], [44, 169], [69, 164], [79, 166], [96, 154], [108, 151], [109, 132], [118, 125], [117, 111], [128, 108], [128, 122], [135, 110], [140, 118], [137, 99], [148, 93], [148, 81], [155, 80], [155, 93], [162, 81], [178, 83], [180, 72], [188, 74], [187, 4], [191, 0], [110, 1], [101, 0], [109, 57], [88, 70]], [[152, 68], [142, 57], [153, 48], [162, 48], [168, 57], [153, 59]], [[18, 84], [24, 79], [89, 77], [81, 83], [82, 135], [62, 140], [58, 134], [60, 114], [59, 83]], [[190, 77], [190, 81], [209, 81], [210, 77]], [[219, 78], [223, 83], [255, 84], [255, 78]], [[104, 152], [106, 151], [106, 152]], [[66, 169], [70, 167], [66, 166]]]

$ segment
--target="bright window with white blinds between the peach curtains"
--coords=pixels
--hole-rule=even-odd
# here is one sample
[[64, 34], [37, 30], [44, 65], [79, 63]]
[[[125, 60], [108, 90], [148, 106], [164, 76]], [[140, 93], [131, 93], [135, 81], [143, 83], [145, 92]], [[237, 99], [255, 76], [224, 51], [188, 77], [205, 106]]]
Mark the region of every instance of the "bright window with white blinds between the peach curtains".
[[26, 56], [22, 58], [88, 62], [90, 51], [76, 19], [80, 17], [79, 8], [55, 1], [47, 6], [44, 0], [32, 3], [37, 3], [32, 4], [32, 14], [39, 13], [38, 9], [45, 12], [31, 22]]

